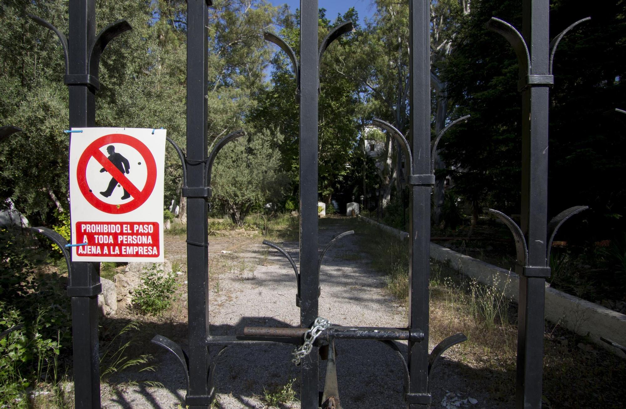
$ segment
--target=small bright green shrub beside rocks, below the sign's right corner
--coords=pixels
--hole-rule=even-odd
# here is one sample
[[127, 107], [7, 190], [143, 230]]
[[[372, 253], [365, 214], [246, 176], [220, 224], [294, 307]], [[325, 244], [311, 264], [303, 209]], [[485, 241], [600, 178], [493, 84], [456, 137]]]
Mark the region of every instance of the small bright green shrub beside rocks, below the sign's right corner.
[[178, 288], [176, 275], [156, 270], [156, 265], [141, 278], [141, 286], [133, 293], [132, 303], [145, 315], [160, 315], [172, 305], [173, 294]]

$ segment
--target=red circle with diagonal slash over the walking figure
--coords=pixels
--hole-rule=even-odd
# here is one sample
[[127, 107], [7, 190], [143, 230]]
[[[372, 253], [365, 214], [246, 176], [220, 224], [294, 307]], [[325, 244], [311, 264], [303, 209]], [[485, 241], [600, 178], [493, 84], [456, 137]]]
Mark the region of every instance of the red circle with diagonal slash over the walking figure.
[[[115, 167], [113, 163], [100, 151], [105, 145], [110, 145], [113, 143], [123, 143], [128, 146], [135, 148], [139, 154], [143, 157], [143, 162], [146, 164], [147, 168], [147, 178], [146, 183], [143, 188], [136, 187], [126, 176], [120, 172], [118, 168]], [[132, 200], [128, 203], [121, 204], [110, 204], [101, 201], [98, 196], [96, 196], [89, 189], [89, 184], [87, 183], [87, 164], [90, 159], [94, 158], [98, 163], [102, 165], [103, 168], [108, 171], [112, 178], [121, 184], [123, 188], [130, 193], [132, 196]], [[101, 136], [96, 139], [83, 151], [78, 159], [78, 166], [76, 168], [76, 180], [78, 181], [78, 188], [80, 188], [81, 193], [85, 197], [85, 199], [96, 209], [100, 211], [104, 211], [105, 213], [111, 213], [113, 215], [121, 215], [122, 213], [128, 213], [129, 211], [133, 211], [141, 204], [145, 203], [146, 200], [150, 197], [150, 194], [155, 188], [156, 184], [156, 162], [154, 156], [150, 152], [143, 142], [141, 142], [137, 138], [133, 138], [130, 135], [125, 135], [121, 133], [112, 133], [105, 136]]]

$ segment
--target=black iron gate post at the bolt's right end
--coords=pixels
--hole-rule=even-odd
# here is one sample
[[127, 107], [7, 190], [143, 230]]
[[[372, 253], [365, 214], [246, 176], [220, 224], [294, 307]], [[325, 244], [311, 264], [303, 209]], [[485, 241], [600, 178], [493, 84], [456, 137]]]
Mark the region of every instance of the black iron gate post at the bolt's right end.
[[409, 176], [409, 328], [424, 331], [421, 342], [409, 341], [408, 408], [426, 408], [428, 392], [428, 280], [430, 276], [430, 208], [434, 176], [430, 159], [430, 2], [409, 0], [409, 76], [413, 173]]

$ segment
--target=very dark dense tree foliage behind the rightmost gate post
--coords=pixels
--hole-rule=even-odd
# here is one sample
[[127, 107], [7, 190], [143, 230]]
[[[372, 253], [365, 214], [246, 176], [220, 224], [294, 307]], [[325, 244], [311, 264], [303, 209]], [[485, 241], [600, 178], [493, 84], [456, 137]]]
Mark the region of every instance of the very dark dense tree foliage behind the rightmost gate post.
[[[570, 223], [579, 223], [577, 236], [590, 243], [625, 226], [614, 216], [626, 214], [626, 116], [609, 114], [623, 104], [626, 86], [626, 48], [617, 45], [626, 41], [625, 11], [623, 2], [580, 0], [553, 1], [550, 10], [550, 33], [592, 17], [558, 45], [550, 89], [548, 174], [549, 216], [575, 204], [589, 205], [582, 216], [588, 223]], [[510, 44], [485, 29], [486, 21], [497, 16], [521, 30], [520, 3], [483, 0], [472, 2], [466, 15], [452, 15], [456, 21], [444, 23], [443, 31], [448, 31], [453, 51], [433, 64], [448, 84], [451, 117], [471, 114], [471, 120], [444, 136], [441, 153], [454, 189], [475, 210], [489, 206], [520, 213], [518, 64]]]

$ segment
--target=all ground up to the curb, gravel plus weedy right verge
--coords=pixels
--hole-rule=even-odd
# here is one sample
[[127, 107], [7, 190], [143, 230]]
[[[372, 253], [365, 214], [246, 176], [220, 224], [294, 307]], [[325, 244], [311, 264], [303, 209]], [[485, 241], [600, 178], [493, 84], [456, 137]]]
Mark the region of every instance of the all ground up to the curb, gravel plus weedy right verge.
[[[407, 323], [404, 300], [386, 290], [388, 278], [372, 265], [384, 235], [349, 218], [320, 221], [323, 248], [339, 233], [356, 234], [337, 241], [326, 253], [321, 268], [319, 315], [337, 325], [403, 327]], [[182, 408], [185, 378], [182, 366], [167, 351], [150, 343], [163, 335], [187, 345], [187, 268], [185, 235], [166, 236], [166, 257], [172, 261], [180, 283], [178, 299], [164, 315], [140, 316], [118, 310], [103, 321], [103, 333], [130, 321], [143, 328], [134, 353], [154, 356], [156, 371], [120, 373], [103, 384], [105, 408]], [[222, 231], [210, 236], [210, 333], [237, 335], [244, 326], [299, 326], [295, 305], [296, 280], [289, 262], [268, 246], [264, 236], [249, 231]], [[298, 243], [278, 244], [298, 263]], [[372, 246], [372, 243], [374, 245]], [[364, 246], [370, 250], [366, 253]], [[374, 250], [372, 250], [374, 249]], [[377, 260], [377, 261], [380, 261]], [[431, 339], [429, 348], [453, 333], [463, 331], [469, 341], [453, 346], [438, 361], [431, 376], [433, 408], [510, 408], [515, 401], [515, 313], [511, 323], [485, 331], [458, 301], [462, 291], [451, 290], [446, 266], [431, 266]], [[434, 280], [434, 281], [433, 281]], [[436, 281], [441, 281], [439, 284]], [[455, 292], [456, 291], [456, 292]], [[342, 408], [404, 408], [403, 368], [398, 356], [377, 341], [337, 340], [337, 375]], [[300, 370], [291, 362], [291, 345], [231, 346], [218, 360], [215, 372], [215, 408], [299, 408], [298, 401], [269, 406], [265, 391], [280, 390], [294, 380], [299, 395]], [[406, 356], [406, 343], [401, 343]], [[212, 348], [214, 357], [218, 348]], [[320, 361], [319, 390], [324, 388], [326, 361]], [[595, 350], [583, 338], [546, 323], [544, 393], [546, 408], [623, 408], [624, 360]], [[595, 381], [592, 381], [592, 377]], [[132, 382], [131, 382], [132, 381]], [[155, 386], [150, 382], [159, 382]], [[580, 403], [581, 405], [578, 405]]]

